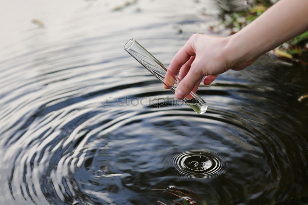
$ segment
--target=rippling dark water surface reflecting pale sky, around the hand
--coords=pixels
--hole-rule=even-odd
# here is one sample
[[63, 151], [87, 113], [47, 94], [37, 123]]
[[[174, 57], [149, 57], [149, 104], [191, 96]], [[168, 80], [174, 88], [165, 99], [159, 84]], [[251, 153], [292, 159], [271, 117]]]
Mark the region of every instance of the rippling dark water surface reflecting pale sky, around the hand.
[[214, 19], [201, 13], [213, 2], [111, 11], [122, 3], [70, 2], [61, 13], [69, 17], [45, 18], [43, 28], [29, 22], [18, 41], [4, 41], [1, 204], [173, 204], [179, 197], [152, 190], [171, 186], [208, 204], [307, 197], [308, 107], [298, 101], [308, 93], [307, 70], [263, 56], [201, 86], [205, 114], [158, 106], [173, 94], [124, 44], [136, 38], [168, 65], [193, 32], [209, 32]]

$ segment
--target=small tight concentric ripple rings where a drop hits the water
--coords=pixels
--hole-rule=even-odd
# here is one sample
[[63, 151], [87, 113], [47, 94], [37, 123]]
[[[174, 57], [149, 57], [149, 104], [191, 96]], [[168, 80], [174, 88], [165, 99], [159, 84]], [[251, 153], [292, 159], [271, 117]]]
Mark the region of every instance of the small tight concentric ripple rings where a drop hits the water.
[[172, 158], [175, 170], [189, 178], [206, 179], [221, 175], [226, 171], [224, 157], [209, 150], [191, 150]]

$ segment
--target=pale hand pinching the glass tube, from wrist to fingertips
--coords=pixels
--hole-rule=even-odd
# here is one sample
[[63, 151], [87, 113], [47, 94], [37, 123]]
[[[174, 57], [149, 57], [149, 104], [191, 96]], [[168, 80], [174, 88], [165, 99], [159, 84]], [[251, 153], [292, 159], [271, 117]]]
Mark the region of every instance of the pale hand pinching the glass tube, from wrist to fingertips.
[[[241, 70], [257, 59], [241, 58], [236, 54], [237, 50], [230, 49], [230, 39], [230, 37], [204, 34], [193, 34], [189, 38], [173, 57], [165, 76], [165, 82], [168, 85], [170, 78], [173, 78], [171, 76], [180, 72], [178, 76], [180, 83], [175, 92], [176, 98], [184, 98], [192, 90], [196, 92], [204, 76], [206, 77], [203, 83], [209, 85], [218, 74], [229, 69]], [[164, 88], [168, 89], [165, 85]]]

